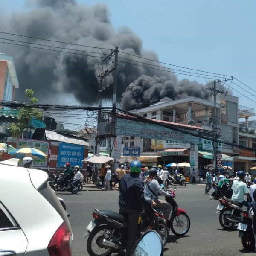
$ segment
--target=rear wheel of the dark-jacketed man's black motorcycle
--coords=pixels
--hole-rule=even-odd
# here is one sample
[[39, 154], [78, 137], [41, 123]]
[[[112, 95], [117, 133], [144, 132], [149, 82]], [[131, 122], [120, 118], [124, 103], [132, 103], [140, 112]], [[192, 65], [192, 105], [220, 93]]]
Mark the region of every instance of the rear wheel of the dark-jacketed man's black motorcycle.
[[113, 248], [104, 247], [100, 244], [100, 241], [103, 240], [103, 238], [112, 241], [112, 230], [113, 228], [110, 226], [103, 225], [90, 233], [86, 244], [87, 252], [90, 256], [110, 256], [111, 253], [113, 253]]

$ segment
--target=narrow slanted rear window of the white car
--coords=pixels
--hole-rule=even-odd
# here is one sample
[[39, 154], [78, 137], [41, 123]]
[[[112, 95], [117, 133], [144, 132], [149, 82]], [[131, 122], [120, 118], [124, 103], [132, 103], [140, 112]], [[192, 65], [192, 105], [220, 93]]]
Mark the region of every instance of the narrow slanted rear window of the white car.
[[64, 210], [63, 206], [61, 205], [60, 201], [58, 200], [58, 197], [55, 195], [55, 192], [52, 190], [52, 188], [49, 186], [47, 181], [40, 186], [38, 189], [38, 192], [52, 205], [52, 207], [58, 212], [58, 214], [61, 216], [63, 221], [65, 221], [68, 229], [71, 233], [71, 226], [70, 222], [67, 218], [67, 212]]

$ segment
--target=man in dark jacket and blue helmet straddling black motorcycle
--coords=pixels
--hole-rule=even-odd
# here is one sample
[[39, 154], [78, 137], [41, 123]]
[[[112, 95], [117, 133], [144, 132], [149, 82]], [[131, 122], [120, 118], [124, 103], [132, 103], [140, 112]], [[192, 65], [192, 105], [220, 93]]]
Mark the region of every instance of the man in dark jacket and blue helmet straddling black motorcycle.
[[120, 180], [119, 213], [128, 219], [128, 237], [125, 256], [130, 256], [131, 250], [136, 243], [136, 232], [140, 212], [143, 204], [156, 205], [153, 201], [145, 199], [143, 195], [143, 182], [139, 178], [141, 164], [134, 160], [130, 164], [130, 173], [123, 175]]

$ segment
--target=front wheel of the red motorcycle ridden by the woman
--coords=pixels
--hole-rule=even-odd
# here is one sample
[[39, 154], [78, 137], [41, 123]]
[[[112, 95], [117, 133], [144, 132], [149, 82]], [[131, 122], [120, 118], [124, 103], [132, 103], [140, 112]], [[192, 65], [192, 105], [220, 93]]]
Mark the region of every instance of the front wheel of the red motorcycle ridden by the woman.
[[175, 236], [184, 236], [189, 231], [190, 219], [184, 212], [180, 212], [179, 217], [177, 215], [172, 215], [170, 223], [170, 228]]

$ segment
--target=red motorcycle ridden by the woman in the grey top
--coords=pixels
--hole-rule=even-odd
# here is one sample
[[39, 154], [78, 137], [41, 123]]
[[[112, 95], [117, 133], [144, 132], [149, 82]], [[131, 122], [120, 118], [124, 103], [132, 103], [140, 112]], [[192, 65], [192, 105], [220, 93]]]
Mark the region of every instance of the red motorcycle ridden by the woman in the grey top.
[[[177, 191], [177, 188], [174, 188], [172, 194], [175, 195], [175, 191]], [[171, 197], [165, 197], [166, 202], [172, 205], [172, 211], [170, 213], [170, 229], [172, 230], [172, 233], [175, 234], [175, 236], [184, 236], [186, 233], [188, 233], [190, 228], [190, 219], [187, 215], [186, 211], [179, 208], [178, 204], [176, 203], [175, 199]], [[159, 213], [160, 217], [163, 218], [164, 210], [163, 209], [157, 209], [157, 212]]]

